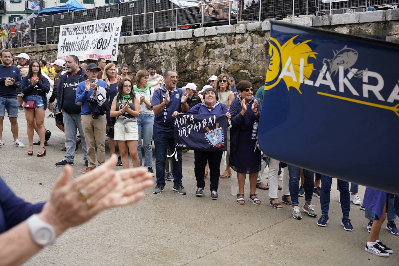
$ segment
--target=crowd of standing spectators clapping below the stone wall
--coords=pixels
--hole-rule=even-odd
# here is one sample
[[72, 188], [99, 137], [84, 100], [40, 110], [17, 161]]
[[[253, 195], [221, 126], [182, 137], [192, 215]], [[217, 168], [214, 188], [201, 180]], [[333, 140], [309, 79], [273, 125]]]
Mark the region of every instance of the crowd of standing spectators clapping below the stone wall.
[[[221, 173], [223, 152], [194, 150], [194, 173], [197, 181], [195, 195], [202, 197], [205, 178], [209, 174], [211, 199], [218, 199], [219, 179], [232, 177], [231, 169], [237, 172], [237, 203], [244, 205], [245, 179], [249, 177], [248, 200], [261, 205], [256, 189], [269, 190], [269, 204], [275, 209], [283, 209], [284, 203], [292, 207], [292, 217], [302, 219], [302, 212], [310, 217], [318, 217], [312, 204], [314, 197], [320, 199], [322, 210], [316, 224], [325, 227], [330, 221], [329, 205], [332, 177], [285, 164], [264, 154], [257, 144], [257, 128], [262, 112], [264, 87], [257, 90], [251, 82], [243, 80], [235, 84], [235, 79], [227, 73], [211, 75], [202, 89], [195, 83], [188, 83], [182, 89], [177, 87], [178, 73], [173, 69], [157, 72], [157, 65], [150, 63], [146, 69], [128, 75], [129, 67], [107, 63], [103, 58], [97, 64], [80, 64], [75, 55], [65, 61], [57, 59], [50, 62], [30, 59], [27, 54], [17, 56], [19, 67], [12, 65], [9, 50], [0, 52], [0, 147], [2, 123], [5, 110], [11, 122], [14, 146], [25, 147], [18, 139], [18, 97], [24, 102], [22, 107], [27, 122], [29, 141], [28, 155], [34, 154], [34, 145], [40, 145], [38, 157], [46, 155], [45, 145], [51, 132], [44, 126], [45, 109], [55, 116], [55, 124], [65, 132], [65, 156], [55, 166], [72, 166], [75, 151], [82, 145], [82, 173], [91, 173], [106, 161], [106, 137], [109, 150], [115, 154], [119, 147], [117, 166], [129, 168], [129, 158], [133, 167], [144, 166], [152, 176], [156, 175], [154, 194], [164, 191], [166, 181], [173, 181], [173, 191], [185, 195], [182, 174], [182, 150], [175, 149], [174, 120], [179, 113], [187, 114], [225, 114], [231, 120], [227, 130], [226, 167]], [[50, 68], [47, 69], [47, 63]], [[53, 73], [53, 78], [49, 77]], [[47, 93], [53, 90], [47, 100]], [[33, 142], [34, 131], [39, 140]], [[143, 140], [143, 141], [142, 141]], [[152, 164], [152, 140], [155, 146], [155, 173]], [[144, 150], [144, 160], [142, 156]], [[170, 160], [175, 151], [175, 160]], [[243, 160], [245, 158], [245, 160]], [[169, 166], [169, 163], [171, 165]], [[269, 165], [268, 181], [265, 184], [262, 174]], [[282, 175], [282, 177], [281, 177]], [[282, 187], [278, 185], [282, 180]], [[386, 229], [399, 235], [395, 225], [395, 203], [393, 195], [367, 188], [363, 203], [358, 195], [358, 185], [338, 180], [342, 218], [340, 224], [346, 231], [353, 231], [350, 219], [351, 202], [360, 205], [369, 219], [367, 231], [369, 241], [367, 252], [378, 256], [388, 256], [392, 250], [379, 239], [381, 224], [387, 213]], [[279, 200], [278, 190], [282, 190]], [[194, 192], [194, 191], [193, 191]], [[304, 196], [304, 204], [299, 197]], [[398, 208], [399, 209], [399, 208]]]

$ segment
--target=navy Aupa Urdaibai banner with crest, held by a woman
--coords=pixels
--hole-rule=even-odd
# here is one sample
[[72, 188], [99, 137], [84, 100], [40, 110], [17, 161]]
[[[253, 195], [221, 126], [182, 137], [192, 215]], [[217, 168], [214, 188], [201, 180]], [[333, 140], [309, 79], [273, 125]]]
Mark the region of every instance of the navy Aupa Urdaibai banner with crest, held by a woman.
[[174, 122], [177, 149], [227, 150], [225, 114], [178, 114]]

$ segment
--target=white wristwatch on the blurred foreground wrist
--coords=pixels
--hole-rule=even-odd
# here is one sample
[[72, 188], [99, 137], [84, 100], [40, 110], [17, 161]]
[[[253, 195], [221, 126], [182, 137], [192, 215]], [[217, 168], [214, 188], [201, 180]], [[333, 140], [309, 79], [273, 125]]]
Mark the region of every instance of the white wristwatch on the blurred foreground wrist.
[[51, 225], [43, 222], [37, 214], [32, 215], [26, 221], [28, 222], [28, 227], [33, 242], [39, 246], [48, 246], [54, 244], [55, 231]]

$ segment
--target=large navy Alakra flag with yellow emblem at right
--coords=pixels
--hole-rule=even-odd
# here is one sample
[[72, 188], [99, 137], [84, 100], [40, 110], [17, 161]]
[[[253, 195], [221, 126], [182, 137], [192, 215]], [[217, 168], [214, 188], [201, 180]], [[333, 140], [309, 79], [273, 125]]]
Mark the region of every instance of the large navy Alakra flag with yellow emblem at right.
[[261, 149], [399, 194], [399, 45], [271, 21]]

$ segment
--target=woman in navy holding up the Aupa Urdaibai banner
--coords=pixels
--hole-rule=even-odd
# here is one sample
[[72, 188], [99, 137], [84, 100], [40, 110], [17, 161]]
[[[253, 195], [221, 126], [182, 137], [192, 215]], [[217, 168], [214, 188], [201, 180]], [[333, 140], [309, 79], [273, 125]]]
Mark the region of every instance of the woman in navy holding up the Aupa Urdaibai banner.
[[[198, 103], [188, 110], [189, 114], [226, 114], [227, 118], [231, 118], [227, 107], [219, 103], [217, 93], [214, 88], [208, 88], [203, 92], [204, 102]], [[177, 111], [173, 116], [178, 114]], [[194, 150], [194, 173], [197, 179], [196, 195], [201, 197], [205, 187], [205, 166], [209, 162], [210, 179], [211, 179], [211, 199], [217, 199], [217, 188], [219, 187], [220, 162], [222, 160], [223, 151]], [[208, 161], [209, 160], [209, 161]], [[255, 180], [256, 185], [256, 180]]]

